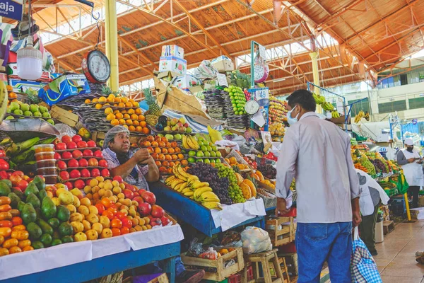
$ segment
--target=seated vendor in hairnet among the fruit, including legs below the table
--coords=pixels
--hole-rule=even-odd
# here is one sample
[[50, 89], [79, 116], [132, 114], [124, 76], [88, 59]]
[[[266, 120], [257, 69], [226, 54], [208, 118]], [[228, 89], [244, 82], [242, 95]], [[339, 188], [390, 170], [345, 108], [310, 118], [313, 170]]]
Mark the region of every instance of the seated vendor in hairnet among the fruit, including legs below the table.
[[[148, 182], [159, 180], [158, 166], [147, 149], [130, 151], [130, 146], [129, 130], [123, 126], [115, 126], [105, 135], [103, 157], [107, 161], [112, 176], [119, 175], [126, 183], [148, 190]], [[152, 272], [162, 272], [158, 262], [155, 262], [152, 269]], [[204, 274], [204, 270], [185, 270], [181, 258], [176, 258], [176, 282], [197, 283], [201, 281]]]

